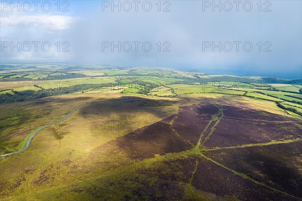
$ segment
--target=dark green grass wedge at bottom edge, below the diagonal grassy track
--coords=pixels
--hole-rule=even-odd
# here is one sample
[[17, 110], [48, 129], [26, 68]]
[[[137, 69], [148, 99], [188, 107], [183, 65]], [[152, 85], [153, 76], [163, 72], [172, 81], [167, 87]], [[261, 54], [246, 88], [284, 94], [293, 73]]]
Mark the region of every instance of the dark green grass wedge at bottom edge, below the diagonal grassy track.
[[[149, 192], [148, 189], [144, 189], [144, 186], [152, 186], [157, 183], [158, 178], [156, 177], [148, 177], [140, 171], [153, 169], [154, 166], [157, 166], [157, 162], [161, 162], [167, 160], [182, 160], [189, 157], [194, 157], [192, 154], [182, 153], [179, 155], [171, 155], [164, 156], [156, 159], [147, 159], [141, 161], [135, 165], [123, 166], [120, 169], [115, 169], [115, 171], [103, 173], [97, 177], [92, 177], [89, 179], [81, 179], [79, 178], [77, 182], [73, 182], [71, 184], [67, 184], [64, 186], [56, 186], [49, 189], [43, 189], [36, 193], [31, 194], [23, 194], [18, 195], [16, 197], [9, 197], [4, 200], [96, 200], [96, 196], [101, 195], [104, 200], [123, 200], [125, 197], [130, 198], [130, 200], [136, 200], [138, 196], [133, 194], [133, 189], [139, 190], [140, 193], [144, 194], [145, 191]], [[161, 164], [162, 165], [162, 164]], [[169, 171], [170, 167], [164, 167], [163, 170]], [[181, 172], [180, 176], [181, 176]], [[129, 179], [129, 178], [139, 178]], [[235, 196], [217, 196], [213, 193], [204, 192], [200, 189], [196, 189], [189, 183], [183, 183], [180, 181], [168, 181], [166, 180], [166, 184], [170, 183], [173, 186], [181, 186], [184, 192], [184, 200], [200, 200], [200, 201], [214, 201], [214, 200], [230, 200], [237, 201], [238, 199]], [[114, 185], [108, 185], [108, 183]], [[125, 188], [125, 186], [127, 186]], [[80, 189], [80, 190], [79, 190]], [[87, 189], [82, 190], [82, 189]], [[161, 195], [165, 194], [167, 197], [174, 197], [173, 194], [169, 194], [171, 192], [162, 189], [160, 185], [153, 186], [153, 193], [159, 196], [159, 192]], [[149, 195], [153, 193], [148, 193]], [[146, 196], [147, 200], [151, 197]]]

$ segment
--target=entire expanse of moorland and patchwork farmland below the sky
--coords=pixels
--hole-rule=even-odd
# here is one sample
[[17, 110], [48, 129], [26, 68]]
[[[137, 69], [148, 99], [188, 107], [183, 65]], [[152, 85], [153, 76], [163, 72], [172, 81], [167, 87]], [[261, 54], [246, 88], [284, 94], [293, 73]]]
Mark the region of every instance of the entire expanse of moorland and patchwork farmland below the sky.
[[1, 65], [0, 197], [302, 200], [301, 82]]

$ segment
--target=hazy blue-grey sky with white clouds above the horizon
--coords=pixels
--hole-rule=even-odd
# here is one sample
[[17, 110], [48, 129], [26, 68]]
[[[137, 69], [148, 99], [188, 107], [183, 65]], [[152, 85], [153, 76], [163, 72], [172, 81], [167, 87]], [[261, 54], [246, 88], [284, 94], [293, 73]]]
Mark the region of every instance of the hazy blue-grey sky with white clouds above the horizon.
[[302, 1], [57, 2], [1, 1], [1, 63], [302, 77]]

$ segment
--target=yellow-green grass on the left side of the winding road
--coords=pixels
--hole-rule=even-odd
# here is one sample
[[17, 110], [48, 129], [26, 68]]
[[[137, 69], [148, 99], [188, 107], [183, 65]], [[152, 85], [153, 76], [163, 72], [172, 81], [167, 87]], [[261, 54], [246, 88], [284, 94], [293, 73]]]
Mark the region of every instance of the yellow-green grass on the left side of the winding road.
[[64, 101], [60, 97], [49, 97], [0, 105], [1, 125], [4, 126], [0, 135], [0, 152], [18, 151], [18, 146], [29, 133], [61, 119], [72, 108], [85, 103], [85, 97], [68, 105], [60, 100]]

